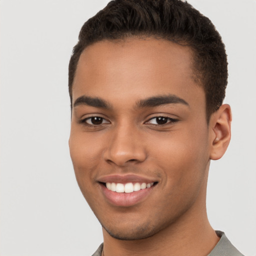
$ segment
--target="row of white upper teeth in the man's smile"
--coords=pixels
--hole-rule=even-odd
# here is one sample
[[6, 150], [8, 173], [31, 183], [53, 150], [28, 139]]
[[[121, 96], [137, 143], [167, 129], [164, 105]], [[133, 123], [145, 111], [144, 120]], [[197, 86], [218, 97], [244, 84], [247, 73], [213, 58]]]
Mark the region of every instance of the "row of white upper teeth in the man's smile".
[[122, 184], [122, 183], [110, 183], [110, 182], [106, 182], [106, 188], [108, 190], [111, 190], [113, 192], [117, 192], [117, 193], [131, 193], [133, 191], [138, 191], [140, 189], [145, 189], [145, 188], [149, 188], [153, 185], [153, 182], [151, 183], [138, 183], [136, 182], [135, 184], [132, 184], [131, 182]]

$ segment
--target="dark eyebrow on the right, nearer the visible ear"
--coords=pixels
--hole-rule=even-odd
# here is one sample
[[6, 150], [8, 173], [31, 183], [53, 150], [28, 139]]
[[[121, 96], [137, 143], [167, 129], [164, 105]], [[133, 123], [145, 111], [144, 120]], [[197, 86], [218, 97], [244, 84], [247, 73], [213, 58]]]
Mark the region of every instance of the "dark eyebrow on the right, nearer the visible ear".
[[177, 103], [187, 105], [189, 107], [189, 104], [184, 99], [174, 94], [159, 95], [159, 96], [153, 96], [153, 97], [141, 99], [137, 101], [136, 107], [137, 108], [154, 107], [154, 106], [160, 106], [165, 104], [177, 104]]

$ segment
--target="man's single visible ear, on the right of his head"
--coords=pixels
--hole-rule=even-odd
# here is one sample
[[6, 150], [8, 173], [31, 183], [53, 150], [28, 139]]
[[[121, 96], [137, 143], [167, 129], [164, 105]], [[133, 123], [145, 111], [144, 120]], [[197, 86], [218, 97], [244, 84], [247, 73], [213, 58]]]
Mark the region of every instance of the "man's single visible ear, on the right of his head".
[[227, 149], [231, 137], [231, 109], [223, 104], [214, 112], [209, 121], [210, 159], [217, 160]]

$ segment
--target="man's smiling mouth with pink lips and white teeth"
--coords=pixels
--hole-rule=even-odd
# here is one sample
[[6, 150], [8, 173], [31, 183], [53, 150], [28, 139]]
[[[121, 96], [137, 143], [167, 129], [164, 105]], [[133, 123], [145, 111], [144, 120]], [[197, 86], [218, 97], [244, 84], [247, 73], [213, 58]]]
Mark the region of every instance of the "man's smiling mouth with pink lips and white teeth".
[[146, 200], [158, 181], [134, 175], [113, 175], [101, 178], [98, 183], [108, 203], [127, 207]]

